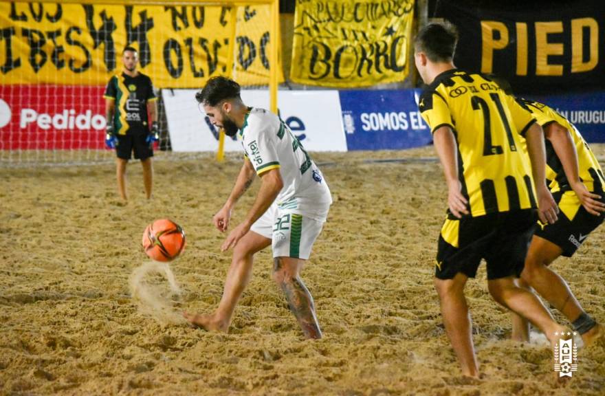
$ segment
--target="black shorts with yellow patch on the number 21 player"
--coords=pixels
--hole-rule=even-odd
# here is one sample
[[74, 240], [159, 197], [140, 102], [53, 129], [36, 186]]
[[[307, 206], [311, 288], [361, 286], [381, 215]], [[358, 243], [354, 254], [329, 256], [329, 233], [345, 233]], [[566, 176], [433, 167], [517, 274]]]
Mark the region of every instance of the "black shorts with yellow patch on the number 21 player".
[[435, 276], [451, 279], [462, 272], [474, 278], [481, 259], [487, 262], [487, 279], [519, 276], [535, 225], [533, 209], [446, 219], [439, 234]]

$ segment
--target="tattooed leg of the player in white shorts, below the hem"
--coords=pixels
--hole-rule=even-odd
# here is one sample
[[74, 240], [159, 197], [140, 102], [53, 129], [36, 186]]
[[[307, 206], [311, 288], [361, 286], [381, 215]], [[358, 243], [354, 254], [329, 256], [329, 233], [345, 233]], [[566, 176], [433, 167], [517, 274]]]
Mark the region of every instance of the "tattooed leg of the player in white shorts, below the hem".
[[300, 279], [300, 276], [287, 274], [281, 257], [274, 260], [274, 279], [283, 290], [288, 301], [290, 311], [296, 316], [300, 328], [306, 338], [321, 338], [321, 330], [315, 313], [315, 304], [309, 289]]

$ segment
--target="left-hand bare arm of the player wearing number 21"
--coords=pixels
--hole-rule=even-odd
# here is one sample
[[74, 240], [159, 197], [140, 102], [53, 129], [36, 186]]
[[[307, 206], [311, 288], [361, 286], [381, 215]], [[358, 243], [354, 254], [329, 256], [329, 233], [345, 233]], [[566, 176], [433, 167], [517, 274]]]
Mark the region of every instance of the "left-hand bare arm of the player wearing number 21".
[[458, 156], [456, 139], [450, 126], [441, 126], [433, 133], [433, 143], [439, 161], [443, 166], [445, 182], [448, 184], [448, 206], [454, 216], [460, 218], [468, 214], [467, 199], [462, 195], [460, 179], [458, 178]]

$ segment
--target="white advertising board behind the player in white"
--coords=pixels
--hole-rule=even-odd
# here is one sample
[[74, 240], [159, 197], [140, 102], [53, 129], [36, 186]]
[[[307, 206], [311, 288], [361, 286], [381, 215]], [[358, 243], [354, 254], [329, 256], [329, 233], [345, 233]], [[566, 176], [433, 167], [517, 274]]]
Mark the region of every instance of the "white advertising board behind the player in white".
[[[195, 101], [194, 89], [163, 90], [173, 151], [217, 151], [219, 131]], [[269, 108], [268, 91], [243, 90], [243, 102]], [[338, 91], [279, 91], [279, 114], [307, 151], [347, 151]], [[225, 151], [242, 151], [236, 137], [225, 136]]]

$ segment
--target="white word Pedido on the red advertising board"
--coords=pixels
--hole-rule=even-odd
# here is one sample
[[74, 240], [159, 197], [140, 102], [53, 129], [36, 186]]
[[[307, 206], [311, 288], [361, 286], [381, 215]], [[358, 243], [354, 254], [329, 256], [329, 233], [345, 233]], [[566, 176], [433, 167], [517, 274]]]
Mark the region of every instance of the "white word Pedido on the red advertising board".
[[51, 126], [58, 131], [65, 129], [83, 131], [91, 128], [101, 131], [107, 125], [103, 115], [93, 115], [91, 110], [87, 110], [83, 114], [76, 114], [74, 109], [65, 109], [61, 113], [51, 115], [49, 113], [38, 113], [34, 109], [21, 109], [19, 128], [26, 129], [34, 122], [44, 131], [50, 129]]

